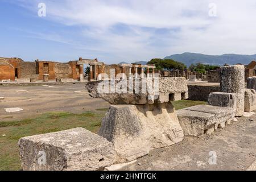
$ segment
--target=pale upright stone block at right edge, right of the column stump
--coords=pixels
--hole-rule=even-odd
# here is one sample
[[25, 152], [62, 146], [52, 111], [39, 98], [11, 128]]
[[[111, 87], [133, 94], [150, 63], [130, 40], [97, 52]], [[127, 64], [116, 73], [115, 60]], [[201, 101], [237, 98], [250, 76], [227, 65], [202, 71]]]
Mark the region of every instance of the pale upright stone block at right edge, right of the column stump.
[[256, 91], [245, 89], [245, 112], [250, 113], [254, 110], [256, 110]]

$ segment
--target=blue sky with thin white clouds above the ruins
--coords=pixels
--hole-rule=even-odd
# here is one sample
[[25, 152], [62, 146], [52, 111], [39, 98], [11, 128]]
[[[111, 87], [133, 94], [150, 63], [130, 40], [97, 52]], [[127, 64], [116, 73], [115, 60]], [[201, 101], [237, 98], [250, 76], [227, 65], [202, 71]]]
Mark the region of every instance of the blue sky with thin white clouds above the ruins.
[[256, 53], [255, 0], [0, 0], [0, 16], [0, 57], [25, 61]]

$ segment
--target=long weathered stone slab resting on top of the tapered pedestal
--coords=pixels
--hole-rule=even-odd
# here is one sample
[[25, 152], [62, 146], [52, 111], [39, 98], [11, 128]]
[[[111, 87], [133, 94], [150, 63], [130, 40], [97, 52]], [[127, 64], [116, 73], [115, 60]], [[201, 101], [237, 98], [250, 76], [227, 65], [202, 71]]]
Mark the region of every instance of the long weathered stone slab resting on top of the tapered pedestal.
[[[154, 79], [151, 78], [151, 80]], [[129, 93], [129, 81], [126, 81], [127, 93], [111, 93], [110, 91], [110, 81], [107, 81], [108, 93], [98, 92], [99, 84], [102, 81], [89, 81], [86, 84], [86, 88], [91, 97], [102, 98], [105, 101], [113, 105], [125, 104], [125, 105], [143, 105], [143, 104], [154, 104], [155, 102], [164, 103], [169, 101], [185, 100], [188, 98], [188, 86], [184, 77], [168, 77], [159, 78], [159, 93], [143, 93], [142, 92], [142, 79], [139, 81], [139, 92], [135, 90], [135, 81], [133, 82], [133, 92]], [[114, 84], [118, 85], [121, 81], [115, 80]], [[147, 82], [147, 81], [146, 81]], [[147, 82], [147, 84], [152, 84], [152, 82]], [[153, 84], [154, 85], [154, 84]], [[153, 86], [154, 88], [154, 86]], [[103, 90], [103, 89], [102, 89]]]

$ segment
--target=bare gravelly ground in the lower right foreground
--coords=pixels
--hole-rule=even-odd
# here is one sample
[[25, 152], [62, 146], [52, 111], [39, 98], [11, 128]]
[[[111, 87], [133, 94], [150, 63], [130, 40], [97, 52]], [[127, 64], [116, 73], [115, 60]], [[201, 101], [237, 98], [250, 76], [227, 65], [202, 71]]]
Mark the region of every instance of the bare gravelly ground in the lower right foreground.
[[[152, 150], [122, 170], [238, 170], [256, 160], [256, 115], [238, 118], [212, 135], [185, 137], [170, 147]], [[213, 155], [217, 158], [214, 160]], [[209, 163], [210, 160], [210, 163]], [[216, 163], [214, 163], [216, 162]], [[255, 169], [250, 167], [249, 169]]]

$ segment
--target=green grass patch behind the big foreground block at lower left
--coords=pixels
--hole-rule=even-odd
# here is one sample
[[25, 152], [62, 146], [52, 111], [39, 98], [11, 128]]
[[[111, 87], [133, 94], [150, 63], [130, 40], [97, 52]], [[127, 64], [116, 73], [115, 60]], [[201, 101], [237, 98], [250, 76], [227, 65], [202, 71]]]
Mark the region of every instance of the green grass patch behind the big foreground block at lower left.
[[[0, 122], [0, 170], [20, 170], [18, 140], [22, 137], [68, 130], [75, 127], [97, 133], [105, 112], [82, 114], [45, 113], [34, 119]], [[5, 135], [5, 137], [3, 137]]]

